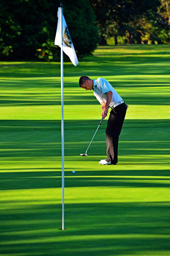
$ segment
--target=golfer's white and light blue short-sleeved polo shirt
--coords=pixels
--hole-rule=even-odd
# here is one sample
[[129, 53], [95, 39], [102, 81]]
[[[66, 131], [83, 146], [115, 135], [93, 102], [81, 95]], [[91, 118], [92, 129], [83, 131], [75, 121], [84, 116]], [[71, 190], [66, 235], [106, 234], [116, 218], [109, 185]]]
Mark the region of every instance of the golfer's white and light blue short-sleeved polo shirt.
[[121, 96], [115, 91], [112, 85], [105, 78], [99, 77], [97, 80], [93, 79], [93, 89], [94, 96], [97, 100], [99, 100], [100, 104], [103, 101], [106, 103], [107, 92], [109, 91], [113, 92], [110, 107], [122, 100]]

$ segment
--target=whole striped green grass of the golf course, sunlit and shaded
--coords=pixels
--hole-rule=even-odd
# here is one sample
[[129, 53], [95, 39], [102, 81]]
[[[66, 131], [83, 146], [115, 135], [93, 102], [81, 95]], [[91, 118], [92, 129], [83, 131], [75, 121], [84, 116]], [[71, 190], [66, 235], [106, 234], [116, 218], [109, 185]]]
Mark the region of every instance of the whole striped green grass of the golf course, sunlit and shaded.
[[[0, 256], [170, 255], [169, 58], [169, 45], [106, 46], [64, 63], [64, 231], [60, 63], [0, 62]], [[98, 164], [107, 120], [79, 156], [101, 119], [81, 75], [129, 105], [117, 165]]]

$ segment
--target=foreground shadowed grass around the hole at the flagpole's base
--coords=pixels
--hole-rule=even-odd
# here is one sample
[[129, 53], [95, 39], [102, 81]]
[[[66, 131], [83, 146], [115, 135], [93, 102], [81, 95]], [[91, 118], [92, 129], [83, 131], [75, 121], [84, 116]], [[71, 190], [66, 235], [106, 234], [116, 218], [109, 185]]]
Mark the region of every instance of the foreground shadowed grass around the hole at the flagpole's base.
[[168, 255], [169, 202], [65, 204], [65, 231], [60, 204], [29, 205], [1, 211], [4, 255]]

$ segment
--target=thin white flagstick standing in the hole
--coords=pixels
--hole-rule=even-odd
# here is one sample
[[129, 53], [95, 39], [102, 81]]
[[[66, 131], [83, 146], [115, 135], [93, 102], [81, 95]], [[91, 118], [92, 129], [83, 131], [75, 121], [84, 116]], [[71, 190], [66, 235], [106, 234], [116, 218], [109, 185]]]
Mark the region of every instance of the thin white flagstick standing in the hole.
[[64, 100], [63, 100], [63, 4], [60, 4], [60, 31], [62, 35], [61, 45], [61, 136], [62, 136], [62, 230], [64, 230]]

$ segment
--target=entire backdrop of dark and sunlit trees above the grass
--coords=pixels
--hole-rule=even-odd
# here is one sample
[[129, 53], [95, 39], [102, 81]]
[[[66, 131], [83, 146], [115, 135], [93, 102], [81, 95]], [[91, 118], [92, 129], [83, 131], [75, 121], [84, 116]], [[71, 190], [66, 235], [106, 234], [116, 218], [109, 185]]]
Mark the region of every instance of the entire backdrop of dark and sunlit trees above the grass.
[[[97, 44], [169, 44], [167, 0], [63, 0], [79, 58]], [[0, 60], [58, 60], [54, 45], [59, 0], [1, 0]], [[65, 57], [67, 58], [67, 57]]]

